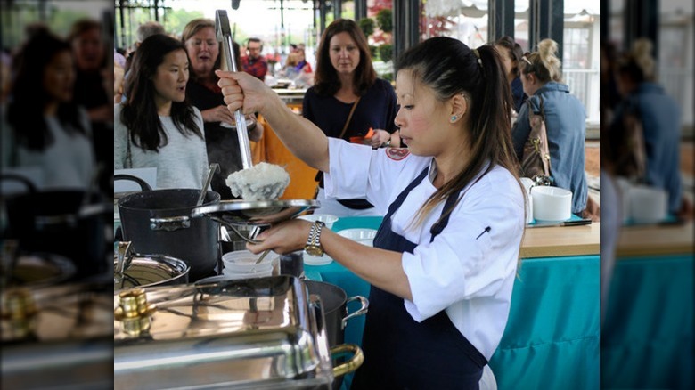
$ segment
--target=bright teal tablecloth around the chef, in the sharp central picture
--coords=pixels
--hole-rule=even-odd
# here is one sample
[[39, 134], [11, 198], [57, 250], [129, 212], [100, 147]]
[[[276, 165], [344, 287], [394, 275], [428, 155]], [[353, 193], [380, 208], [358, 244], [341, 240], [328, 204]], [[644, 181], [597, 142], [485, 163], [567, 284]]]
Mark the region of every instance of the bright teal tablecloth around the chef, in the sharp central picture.
[[[377, 229], [380, 220], [340, 218], [332, 230]], [[369, 296], [369, 284], [336, 262], [306, 265], [305, 272], [345, 289], [348, 297]], [[346, 343], [361, 345], [363, 328], [364, 316], [349, 321]], [[522, 261], [510, 319], [490, 367], [500, 390], [599, 388], [599, 256]], [[350, 382], [347, 376], [343, 388]]]

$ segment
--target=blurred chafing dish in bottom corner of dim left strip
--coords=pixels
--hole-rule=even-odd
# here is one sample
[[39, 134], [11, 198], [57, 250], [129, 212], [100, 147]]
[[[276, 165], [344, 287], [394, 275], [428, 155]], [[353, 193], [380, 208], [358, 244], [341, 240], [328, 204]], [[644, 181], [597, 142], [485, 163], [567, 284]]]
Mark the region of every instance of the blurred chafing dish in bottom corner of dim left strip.
[[3, 389], [110, 388], [109, 282], [2, 291]]

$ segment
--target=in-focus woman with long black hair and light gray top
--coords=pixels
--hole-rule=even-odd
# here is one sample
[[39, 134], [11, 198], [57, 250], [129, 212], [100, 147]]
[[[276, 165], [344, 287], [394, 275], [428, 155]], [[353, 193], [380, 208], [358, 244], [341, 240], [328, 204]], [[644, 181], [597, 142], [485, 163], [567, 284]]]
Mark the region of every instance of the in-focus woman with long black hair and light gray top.
[[185, 46], [154, 35], [137, 49], [127, 102], [114, 113], [114, 169], [156, 167], [157, 188], [202, 188], [208, 173], [200, 110], [185, 100]]

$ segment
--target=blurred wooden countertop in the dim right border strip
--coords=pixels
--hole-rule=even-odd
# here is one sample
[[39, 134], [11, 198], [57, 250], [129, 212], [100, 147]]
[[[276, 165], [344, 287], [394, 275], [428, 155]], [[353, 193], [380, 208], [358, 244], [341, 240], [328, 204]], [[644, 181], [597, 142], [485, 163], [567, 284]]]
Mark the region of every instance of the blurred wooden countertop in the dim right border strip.
[[693, 221], [682, 225], [624, 226], [617, 258], [693, 253]]

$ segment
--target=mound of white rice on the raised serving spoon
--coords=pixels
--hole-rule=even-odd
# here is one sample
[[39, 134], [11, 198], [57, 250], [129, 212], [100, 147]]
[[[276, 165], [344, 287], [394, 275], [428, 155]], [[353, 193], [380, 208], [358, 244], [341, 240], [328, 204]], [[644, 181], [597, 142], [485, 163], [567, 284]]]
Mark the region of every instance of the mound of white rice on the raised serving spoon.
[[227, 176], [226, 184], [235, 197], [274, 200], [280, 198], [290, 184], [290, 175], [283, 167], [262, 162]]

